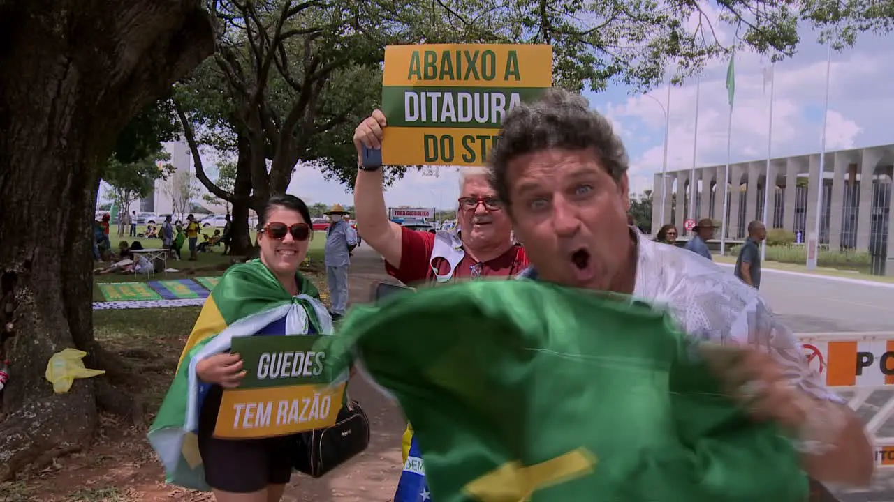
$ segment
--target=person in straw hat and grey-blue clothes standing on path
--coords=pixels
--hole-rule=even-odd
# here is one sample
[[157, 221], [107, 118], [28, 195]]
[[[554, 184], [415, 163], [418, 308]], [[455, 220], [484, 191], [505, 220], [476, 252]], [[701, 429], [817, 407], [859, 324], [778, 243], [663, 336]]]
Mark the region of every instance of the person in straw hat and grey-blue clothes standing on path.
[[350, 252], [357, 247], [357, 232], [344, 221], [348, 212], [341, 204], [333, 205], [332, 209], [324, 214], [331, 221], [326, 230], [324, 250], [326, 286], [329, 288], [329, 299], [332, 304], [330, 313], [333, 319], [338, 319], [344, 315], [348, 307], [348, 266]]

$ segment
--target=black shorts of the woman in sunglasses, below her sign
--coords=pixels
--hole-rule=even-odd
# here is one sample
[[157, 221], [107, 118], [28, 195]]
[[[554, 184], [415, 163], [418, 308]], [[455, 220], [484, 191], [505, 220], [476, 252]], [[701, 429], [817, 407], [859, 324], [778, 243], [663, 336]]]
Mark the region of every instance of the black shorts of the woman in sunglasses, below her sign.
[[288, 438], [217, 439], [212, 437], [223, 389], [213, 387], [198, 419], [198, 452], [205, 481], [213, 489], [250, 493], [291, 479], [291, 441]]

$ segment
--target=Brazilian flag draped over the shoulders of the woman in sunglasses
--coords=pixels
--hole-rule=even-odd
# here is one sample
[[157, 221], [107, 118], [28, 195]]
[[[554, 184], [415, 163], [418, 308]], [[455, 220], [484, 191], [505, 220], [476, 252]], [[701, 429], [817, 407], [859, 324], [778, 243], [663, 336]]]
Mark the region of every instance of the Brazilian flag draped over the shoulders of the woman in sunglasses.
[[256, 259], [230, 267], [211, 291], [148, 432], [149, 442], [164, 464], [167, 482], [189, 489], [210, 489], [196, 436], [202, 389], [207, 388], [196, 377], [199, 360], [229, 350], [234, 337], [255, 335], [283, 317], [286, 332], [278, 334], [332, 334], [332, 318], [320, 302], [317, 289], [300, 273], [295, 279], [301, 294], [292, 297]]

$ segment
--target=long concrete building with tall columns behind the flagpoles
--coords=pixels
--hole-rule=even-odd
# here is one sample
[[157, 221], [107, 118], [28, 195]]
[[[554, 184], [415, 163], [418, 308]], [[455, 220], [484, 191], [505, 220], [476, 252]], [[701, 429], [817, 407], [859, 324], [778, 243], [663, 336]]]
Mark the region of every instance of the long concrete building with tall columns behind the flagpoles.
[[[730, 164], [730, 198], [727, 204], [727, 238], [746, 238], [748, 222], [763, 220], [763, 194], [767, 187], [767, 227], [801, 233], [804, 240], [814, 230], [817, 184], [822, 180], [820, 244], [830, 250], [856, 249], [873, 255], [879, 273], [894, 275], [894, 212], [890, 211], [891, 179], [894, 176], [894, 145], [840, 150], [825, 154], [820, 172], [820, 154], [797, 155]], [[768, 172], [769, 170], [769, 172]], [[695, 219], [721, 221], [723, 192], [718, 190], [726, 164], [655, 174], [652, 229], [673, 223], [685, 233], [684, 223], [691, 203], [690, 183], [695, 183]], [[690, 180], [690, 178], [693, 178]], [[768, 183], [767, 180], [770, 180]], [[662, 222], [662, 189], [664, 222]], [[679, 204], [677, 201], [682, 201]], [[716, 230], [715, 237], [720, 238]], [[875, 268], [875, 265], [873, 265]]]

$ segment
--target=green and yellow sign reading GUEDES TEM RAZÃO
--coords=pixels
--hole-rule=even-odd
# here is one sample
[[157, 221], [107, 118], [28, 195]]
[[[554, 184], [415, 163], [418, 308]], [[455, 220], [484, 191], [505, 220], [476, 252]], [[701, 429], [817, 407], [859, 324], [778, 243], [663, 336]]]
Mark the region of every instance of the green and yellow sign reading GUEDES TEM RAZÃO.
[[[314, 335], [240, 337], [245, 378], [223, 391], [215, 437], [249, 439], [313, 431], [335, 423], [345, 383], [330, 386], [325, 348]], [[325, 346], [324, 346], [325, 347]]]

